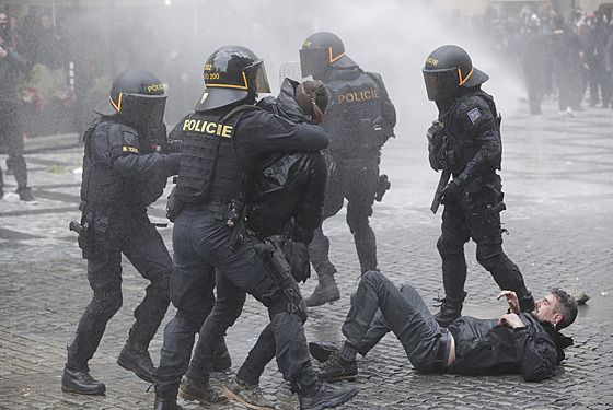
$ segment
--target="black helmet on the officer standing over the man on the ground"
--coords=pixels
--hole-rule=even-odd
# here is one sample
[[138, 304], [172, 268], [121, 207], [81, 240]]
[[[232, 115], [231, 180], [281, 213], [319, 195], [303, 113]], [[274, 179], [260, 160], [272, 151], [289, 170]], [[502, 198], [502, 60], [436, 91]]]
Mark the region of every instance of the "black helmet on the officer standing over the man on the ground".
[[430, 52], [421, 72], [430, 101], [448, 99], [456, 95], [460, 87], [476, 86], [489, 79], [485, 72], [473, 67], [464, 49], [453, 45]]

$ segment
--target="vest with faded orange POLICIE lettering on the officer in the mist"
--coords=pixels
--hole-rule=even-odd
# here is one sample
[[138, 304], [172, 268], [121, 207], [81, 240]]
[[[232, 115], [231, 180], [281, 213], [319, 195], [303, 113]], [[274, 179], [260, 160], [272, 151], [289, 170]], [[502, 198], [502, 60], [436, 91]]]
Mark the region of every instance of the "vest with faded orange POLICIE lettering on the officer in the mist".
[[381, 132], [375, 132], [374, 120], [381, 117], [384, 91], [362, 70], [333, 72], [326, 85], [331, 97], [322, 127], [331, 137], [329, 150], [335, 159], [378, 155], [385, 141]]

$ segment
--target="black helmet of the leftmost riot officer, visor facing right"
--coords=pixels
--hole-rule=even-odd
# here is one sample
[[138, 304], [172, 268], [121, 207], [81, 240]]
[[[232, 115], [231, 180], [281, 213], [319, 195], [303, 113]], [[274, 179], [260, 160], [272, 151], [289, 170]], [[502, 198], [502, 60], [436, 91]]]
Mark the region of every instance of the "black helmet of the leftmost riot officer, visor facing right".
[[152, 129], [163, 122], [165, 107], [166, 93], [162, 82], [149, 71], [130, 69], [115, 79], [108, 99], [94, 110], [107, 117], [118, 117], [134, 128]]

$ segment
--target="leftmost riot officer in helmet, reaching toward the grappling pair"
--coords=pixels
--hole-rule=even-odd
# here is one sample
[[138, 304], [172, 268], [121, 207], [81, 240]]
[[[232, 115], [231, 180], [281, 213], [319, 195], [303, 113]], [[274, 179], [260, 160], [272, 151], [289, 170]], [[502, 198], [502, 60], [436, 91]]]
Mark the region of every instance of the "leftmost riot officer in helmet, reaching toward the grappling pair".
[[107, 321], [122, 307], [122, 254], [148, 279], [146, 296], [135, 309], [136, 323], [117, 363], [151, 382], [149, 342], [169, 307], [172, 259], [149, 221], [147, 207], [178, 173], [180, 155], [163, 153], [166, 94], [162, 82], [144, 70], [127, 70], [113, 83], [108, 101], [95, 109], [85, 132], [79, 246], [88, 259], [93, 298], [68, 348], [61, 388], [102, 395], [104, 384], [89, 373], [88, 361], [102, 339]]

